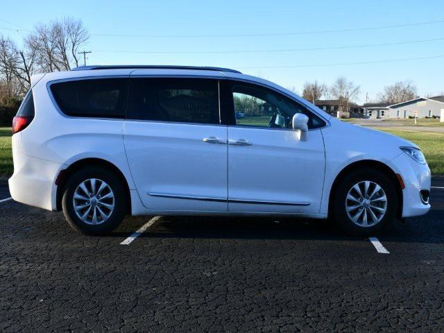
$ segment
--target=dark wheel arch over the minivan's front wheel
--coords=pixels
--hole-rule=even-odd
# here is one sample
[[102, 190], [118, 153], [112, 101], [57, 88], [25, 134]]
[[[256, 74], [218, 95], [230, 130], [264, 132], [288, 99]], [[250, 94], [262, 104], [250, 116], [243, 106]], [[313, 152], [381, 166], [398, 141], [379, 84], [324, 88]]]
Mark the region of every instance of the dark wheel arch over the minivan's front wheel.
[[329, 198], [328, 198], [328, 214], [329, 214], [329, 216], [332, 212], [332, 196], [335, 193], [341, 180], [345, 177], [345, 175], [347, 175], [348, 173], [350, 173], [352, 171], [355, 171], [357, 169], [362, 169], [362, 168], [368, 168], [368, 167], [375, 168], [375, 169], [378, 169], [379, 171], [382, 171], [382, 173], [384, 173], [386, 176], [388, 176], [388, 178], [393, 183], [393, 186], [395, 187], [395, 190], [396, 190], [396, 194], [398, 196], [398, 203], [399, 203], [398, 209], [396, 212], [396, 216], [399, 219], [401, 218], [402, 206], [403, 206], [403, 202], [402, 202], [403, 196], [402, 196], [402, 185], [400, 184], [400, 180], [399, 180], [397, 174], [395, 173], [395, 171], [393, 171], [393, 169], [391, 169], [391, 167], [388, 167], [387, 164], [384, 164], [384, 163], [376, 161], [376, 160], [359, 160], [356, 162], [352, 162], [352, 163], [348, 164], [346, 167], [344, 167], [341, 170], [341, 172], [338, 173], [338, 175], [334, 179], [332, 187], [330, 188], [330, 194], [329, 194]]

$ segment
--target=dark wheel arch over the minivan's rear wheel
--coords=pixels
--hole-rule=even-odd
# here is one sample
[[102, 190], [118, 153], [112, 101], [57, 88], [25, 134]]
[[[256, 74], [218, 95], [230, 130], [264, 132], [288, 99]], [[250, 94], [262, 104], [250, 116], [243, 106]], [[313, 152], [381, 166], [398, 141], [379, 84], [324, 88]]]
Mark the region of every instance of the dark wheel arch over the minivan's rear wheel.
[[104, 167], [109, 169], [110, 171], [114, 172], [118, 177], [119, 180], [121, 180], [123, 187], [126, 189], [126, 209], [127, 212], [131, 212], [131, 194], [130, 194], [130, 187], [128, 186], [128, 181], [126, 180], [126, 177], [123, 175], [123, 172], [113, 163], [103, 160], [101, 158], [96, 157], [87, 157], [83, 158], [81, 160], [77, 160], [76, 162], [72, 163], [67, 167], [67, 169], [63, 169], [60, 171], [56, 178], [56, 185], [57, 185], [57, 195], [56, 195], [56, 207], [57, 211], [62, 210], [62, 196], [63, 192], [65, 191], [65, 185], [67, 184], [69, 178], [76, 173], [76, 171], [83, 169], [85, 167]]

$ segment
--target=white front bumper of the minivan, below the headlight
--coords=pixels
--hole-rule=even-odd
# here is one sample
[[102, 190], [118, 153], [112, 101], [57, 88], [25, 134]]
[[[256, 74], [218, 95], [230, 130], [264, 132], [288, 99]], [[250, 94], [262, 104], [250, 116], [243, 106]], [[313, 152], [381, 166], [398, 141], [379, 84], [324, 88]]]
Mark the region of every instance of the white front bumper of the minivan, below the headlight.
[[402, 217], [427, 214], [430, 205], [421, 199], [420, 191], [430, 191], [431, 173], [429, 166], [419, 164], [405, 153], [400, 154], [391, 162], [399, 169], [402, 180], [404, 180]]

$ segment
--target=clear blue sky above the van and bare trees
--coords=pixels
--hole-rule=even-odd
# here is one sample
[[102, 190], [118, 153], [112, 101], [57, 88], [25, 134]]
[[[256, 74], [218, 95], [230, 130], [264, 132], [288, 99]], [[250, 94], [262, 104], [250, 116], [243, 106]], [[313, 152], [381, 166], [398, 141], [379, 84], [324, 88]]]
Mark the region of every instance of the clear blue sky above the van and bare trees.
[[[69, 6], [63, 6], [59, 0], [4, 2], [0, 12], [0, 33], [9, 35], [17, 42], [22, 39], [26, 30], [33, 28], [38, 22], [49, 22], [65, 15], [82, 19], [91, 33], [86, 47], [88, 51], [92, 51], [87, 60], [89, 64], [230, 67], [246, 74], [273, 80], [284, 87], [295, 87], [299, 93], [302, 92], [302, 85], [306, 80], [317, 79], [330, 85], [338, 76], [345, 76], [361, 86], [361, 102], [365, 101], [366, 92], [370, 100], [375, 99], [377, 92], [381, 91], [384, 85], [405, 79], [413, 80], [421, 95], [444, 92], [442, 0], [77, 0], [66, 1]], [[314, 33], [436, 21], [441, 22], [361, 31]], [[21, 31], [10, 31], [7, 28], [17, 28]], [[295, 34], [273, 35], [280, 33]], [[435, 40], [409, 44], [325, 49], [433, 39]], [[283, 49], [311, 50], [219, 52]], [[174, 53], [178, 51], [207, 53]], [[361, 65], [331, 65], [434, 56], [442, 57]], [[307, 67], [300, 67], [301, 65]]]

